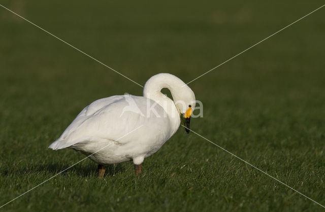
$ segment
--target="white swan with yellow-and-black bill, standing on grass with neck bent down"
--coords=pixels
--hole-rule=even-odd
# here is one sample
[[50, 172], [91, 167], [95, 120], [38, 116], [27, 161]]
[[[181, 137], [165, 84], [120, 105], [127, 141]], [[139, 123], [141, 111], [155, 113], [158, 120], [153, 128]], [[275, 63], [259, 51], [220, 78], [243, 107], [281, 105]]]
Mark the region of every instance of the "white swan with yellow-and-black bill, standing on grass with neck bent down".
[[[174, 100], [160, 92], [163, 88]], [[143, 96], [110, 96], [89, 104], [49, 148], [69, 147], [89, 156], [99, 164], [100, 178], [103, 165], [130, 160], [140, 174], [144, 158], [165, 144], [182, 117], [189, 132], [195, 102], [193, 91], [179, 78], [157, 74], [146, 82]]]

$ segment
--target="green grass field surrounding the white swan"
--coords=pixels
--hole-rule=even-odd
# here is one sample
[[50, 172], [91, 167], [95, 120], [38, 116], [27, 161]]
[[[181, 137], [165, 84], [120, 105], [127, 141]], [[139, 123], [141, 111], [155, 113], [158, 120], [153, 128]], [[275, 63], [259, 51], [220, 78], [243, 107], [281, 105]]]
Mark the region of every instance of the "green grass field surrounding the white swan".
[[[144, 84], [184, 82], [320, 7], [322, 1], [8, 1], [1, 4]], [[191, 129], [325, 204], [325, 8], [189, 84]], [[47, 147], [95, 99], [142, 88], [0, 7], [0, 205], [83, 159]], [[85, 160], [3, 211], [321, 211], [194, 133], [145, 159]]]

